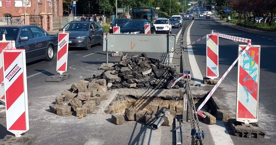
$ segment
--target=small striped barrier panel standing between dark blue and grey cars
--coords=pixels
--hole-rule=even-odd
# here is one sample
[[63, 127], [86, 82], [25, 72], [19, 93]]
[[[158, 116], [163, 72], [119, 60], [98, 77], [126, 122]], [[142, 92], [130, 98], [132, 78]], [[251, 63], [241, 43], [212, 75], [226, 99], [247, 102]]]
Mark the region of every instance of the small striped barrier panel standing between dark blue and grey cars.
[[68, 42], [69, 33], [59, 33], [58, 42], [58, 58], [57, 58], [57, 72], [60, 74], [67, 71], [67, 58], [68, 58]]

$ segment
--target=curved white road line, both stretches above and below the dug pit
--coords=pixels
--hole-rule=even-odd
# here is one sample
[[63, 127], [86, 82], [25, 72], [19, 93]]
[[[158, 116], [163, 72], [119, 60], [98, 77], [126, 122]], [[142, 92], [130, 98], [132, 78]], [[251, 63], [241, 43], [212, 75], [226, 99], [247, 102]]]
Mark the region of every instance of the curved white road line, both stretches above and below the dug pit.
[[[193, 25], [194, 21], [192, 21], [192, 24], [189, 26], [187, 30], [187, 44], [191, 43], [190, 39], [190, 29]], [[196, 61], [196, 58], [194, 56], [193, 47], [188, 46], [188, 57], [190, 61], [190, 66], [192, 69], [192, 73], [194, 76], [195, 81], [197, 80], [203, 80], [203, 76], [200, 73], [198, 63]], [[201, 82], [200, 82], [201, 83]], [[215, 145], [234, 145], [229, 132], [226, 130], [225, 125], [222, 121], [216, 121], [216, 124], [209, 125], [209, 130], [213, 136]]]

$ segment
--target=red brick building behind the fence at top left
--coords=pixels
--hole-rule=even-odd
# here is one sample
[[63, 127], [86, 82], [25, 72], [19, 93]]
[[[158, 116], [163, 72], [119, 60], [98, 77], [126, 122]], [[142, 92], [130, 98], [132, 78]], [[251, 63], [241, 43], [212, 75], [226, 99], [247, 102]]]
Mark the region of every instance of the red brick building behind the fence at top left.
[[[24, 14], [25, 0], [0, 0], [0, 17], [20, 16]], [[39, 15], [40, 13], [62, 16], [62, 0], [29, 0], [26, 13]]]

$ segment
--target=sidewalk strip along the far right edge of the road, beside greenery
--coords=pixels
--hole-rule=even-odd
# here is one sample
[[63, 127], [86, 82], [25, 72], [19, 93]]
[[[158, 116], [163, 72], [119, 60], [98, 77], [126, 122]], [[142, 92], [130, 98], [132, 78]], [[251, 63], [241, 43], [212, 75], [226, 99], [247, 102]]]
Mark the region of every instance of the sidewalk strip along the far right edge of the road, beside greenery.
[[224, 25], [224, 26], [227, 26], [227, 27], [230, 27], [233, 29], [238, 29], [238, 30], [252, 33], [252, 34], [265, 35], [265, 36], [276, 38], [276, 31], [265, 31], [265, 30], [251, 29], [251, 28], [245, 28], [242, 26], [237, 26], [236, 24], [231, 24], [231, 23], [228, 24], [226, 21], [222, 21], [218, 17], [214, 17], [213, 20], [217, 23], [220, 23], [221, 25]]

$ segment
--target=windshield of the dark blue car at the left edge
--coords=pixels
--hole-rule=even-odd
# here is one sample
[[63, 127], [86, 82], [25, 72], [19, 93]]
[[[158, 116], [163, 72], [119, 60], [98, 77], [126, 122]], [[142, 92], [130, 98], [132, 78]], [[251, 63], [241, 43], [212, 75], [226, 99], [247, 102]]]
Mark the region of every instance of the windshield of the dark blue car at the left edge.
[[6, 40], [15, 40], [17, 37], [17, 28], [0, 27], [0, 40], [3, 40], [3, 34], [5, 34]]

